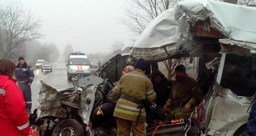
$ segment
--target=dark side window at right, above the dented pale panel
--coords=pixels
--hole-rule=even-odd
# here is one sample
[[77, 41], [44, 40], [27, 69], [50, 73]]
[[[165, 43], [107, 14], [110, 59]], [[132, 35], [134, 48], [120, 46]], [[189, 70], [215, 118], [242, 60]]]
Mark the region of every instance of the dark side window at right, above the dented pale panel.
[[253, 96], [256, 91], [256, 54], [248, 57], [226, 54], [220, 85], [238, 96]]

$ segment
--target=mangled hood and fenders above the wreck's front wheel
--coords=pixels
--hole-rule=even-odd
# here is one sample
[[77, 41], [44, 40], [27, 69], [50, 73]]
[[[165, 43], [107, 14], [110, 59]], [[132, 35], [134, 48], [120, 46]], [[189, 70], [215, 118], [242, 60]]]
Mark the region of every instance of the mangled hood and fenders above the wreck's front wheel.
[[73, 88], [57, 91], [41, 81], [41, 88], [38, 94], [38, 117], [55, 116], [66, 118], [69, 113], [67, 107], [72, 107], [78, 110], [79, 116], [88, 125], [96, 89], [102, 83], [102, 78], [89, 76], [76, 80]]

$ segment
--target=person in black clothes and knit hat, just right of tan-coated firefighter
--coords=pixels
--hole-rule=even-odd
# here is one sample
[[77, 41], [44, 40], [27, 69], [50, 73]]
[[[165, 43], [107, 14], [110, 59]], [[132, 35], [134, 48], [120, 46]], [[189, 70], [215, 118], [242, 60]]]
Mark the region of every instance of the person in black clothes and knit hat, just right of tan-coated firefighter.
[[166, 104], [169, 98], [172, 80], [167, 79], [159, 70], [154, 70], [151, 73], [151, 81], [154, 87], [154, 91], [157, 94], [156, 104], [157, 104], [157, 119], [163, 120], [165, 118], [165, 113], [163, 112], [163, 106]]

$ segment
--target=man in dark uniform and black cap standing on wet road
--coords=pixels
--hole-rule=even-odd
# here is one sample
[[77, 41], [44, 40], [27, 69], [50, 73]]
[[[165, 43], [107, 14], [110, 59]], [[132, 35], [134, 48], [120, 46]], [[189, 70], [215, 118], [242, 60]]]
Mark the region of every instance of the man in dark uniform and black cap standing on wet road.
[[24, 94], [26, 102], [26, 111], [31, 113], [32, 100], [31, 100], [31, 84], [34, 80], [34, 72], [30, 65], [28, 65], [24, 57], [19, 57], [19, 63], [15, 69], [15, 77], [17, 79], [20, 90]]

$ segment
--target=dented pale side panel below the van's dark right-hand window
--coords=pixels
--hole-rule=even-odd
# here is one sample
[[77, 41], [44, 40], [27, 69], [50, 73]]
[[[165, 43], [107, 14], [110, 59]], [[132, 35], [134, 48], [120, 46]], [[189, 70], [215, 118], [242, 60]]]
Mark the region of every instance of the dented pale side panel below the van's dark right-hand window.
[[229, 89], [221, 88], [217, 82], [215, 83], [215, 92], [211, 98], [213, 98], [214, 103], [209, 103], [210, 105], [207, 105], [205, 109], [207, 111], [206, 125], [209, 123], [206, 127], [206, 133], [211, 136], [233, 135], [234, 130], [246, 123], [249, 116], [246, 111], [252, 99], [236, 96]]

